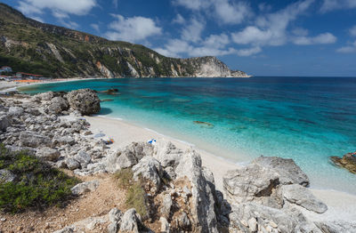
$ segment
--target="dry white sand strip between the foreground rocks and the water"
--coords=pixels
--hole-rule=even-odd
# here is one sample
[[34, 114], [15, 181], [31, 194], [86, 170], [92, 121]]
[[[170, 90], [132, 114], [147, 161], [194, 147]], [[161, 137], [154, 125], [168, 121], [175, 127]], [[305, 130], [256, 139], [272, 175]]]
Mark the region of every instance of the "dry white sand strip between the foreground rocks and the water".
[[[198, 148], [184, 141], [176, 140], [170, 136], [154, 132], [153, 130], [142, 126], [133, 125], [125, 120], [112, 119], [103, 116], [85, 116], [85, 119], [91, 124], [90, 129], [93, 133], [105, 133], [106, 137], [114, 140], [110, 145], [111, 149], [120, 149], [133, 141], [148, 141], [155, 138], [158, 143], [172, 141], [178, 149], [189, 149], [190, 146], [195, 149], [202, 158], [202, 165], [209, 168], [214, 173], [216, 189], [223, 191], [223, 175], [228, 170], [239, 167], [223, 157], [217, 157], [204, 149]], [[356, 195], [345, 193], [332, 189], [311, 189], [315, 197], [320, 198], [326, 205], [326, 213], [317, 214], [305, 212], [313, 221], [355, 221], [356, 220]], [[301, 211], [303, 209], [301, 208]]]

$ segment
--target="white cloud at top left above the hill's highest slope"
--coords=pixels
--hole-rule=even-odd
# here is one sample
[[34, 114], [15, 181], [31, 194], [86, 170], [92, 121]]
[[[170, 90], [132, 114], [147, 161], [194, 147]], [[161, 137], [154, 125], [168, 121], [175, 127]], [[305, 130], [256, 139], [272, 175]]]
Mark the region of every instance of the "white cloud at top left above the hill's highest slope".
[[85, 15], [96, 6], [96, 0], [22, 0], [19, 10], [25, 14], [40, 14], [44, 9], [53, 12]]

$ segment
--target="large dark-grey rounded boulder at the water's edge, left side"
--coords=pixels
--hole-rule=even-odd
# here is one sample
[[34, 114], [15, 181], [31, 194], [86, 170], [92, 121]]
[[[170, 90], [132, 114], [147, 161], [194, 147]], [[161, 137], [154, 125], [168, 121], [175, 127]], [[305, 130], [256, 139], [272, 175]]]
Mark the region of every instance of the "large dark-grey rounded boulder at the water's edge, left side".
[[91, 89], [79, 89], [67, 95], [69, 106], [83, 115], [98, 113], [101, 109], [96, 92]]

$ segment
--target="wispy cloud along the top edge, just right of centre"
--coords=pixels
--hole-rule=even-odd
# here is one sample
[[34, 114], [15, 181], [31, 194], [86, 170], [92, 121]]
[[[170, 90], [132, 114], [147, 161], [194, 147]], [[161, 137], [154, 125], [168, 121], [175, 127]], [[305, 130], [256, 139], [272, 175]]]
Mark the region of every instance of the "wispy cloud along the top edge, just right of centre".
[[192, 11], [206, 12], [213, 15], [223, 24], [239, 24], [251, 17], [253, 12], [247, 2], [231, 2], [230, 0], [174, 0], [175, 5], [181, 5]]

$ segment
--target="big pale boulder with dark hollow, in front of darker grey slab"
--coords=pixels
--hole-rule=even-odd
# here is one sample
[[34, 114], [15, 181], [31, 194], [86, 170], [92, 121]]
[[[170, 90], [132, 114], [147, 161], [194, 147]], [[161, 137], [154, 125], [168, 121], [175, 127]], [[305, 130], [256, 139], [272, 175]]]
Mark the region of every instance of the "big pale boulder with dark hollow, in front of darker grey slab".
[[223, 177], [223, 189], [233, 204], [255, 201], [281, 208], [279, 174], [261, 165], [251, 164], [228, 171]]

